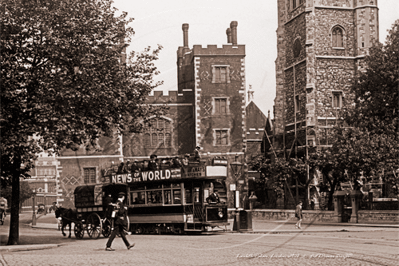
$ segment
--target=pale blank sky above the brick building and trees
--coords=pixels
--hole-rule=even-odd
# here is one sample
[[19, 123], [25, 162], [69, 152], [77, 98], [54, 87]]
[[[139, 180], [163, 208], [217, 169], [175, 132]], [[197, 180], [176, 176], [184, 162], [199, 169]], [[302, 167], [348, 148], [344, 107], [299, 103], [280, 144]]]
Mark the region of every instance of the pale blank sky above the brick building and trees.
[[[163, 47], [155, 62], [164, 82], [156, 90], [177, 91], [176, 51], [183, 46], [182, 24], [188, 23], [188, 44], [206, 47], [227, 44], [226, 29], [237, 21], [237, 42], [246, 50], [246, 88], [252, 87], [254, 102], [273, 117], [276, 96], [275, 60], [277, 58], [277, 0], [114, 0], [119, 11], [134, 18], [130, 26], [135, 35], [127, 52], [146, 47]], [[379, 0], [380, 42], [399, 19], [399, 0]]]

